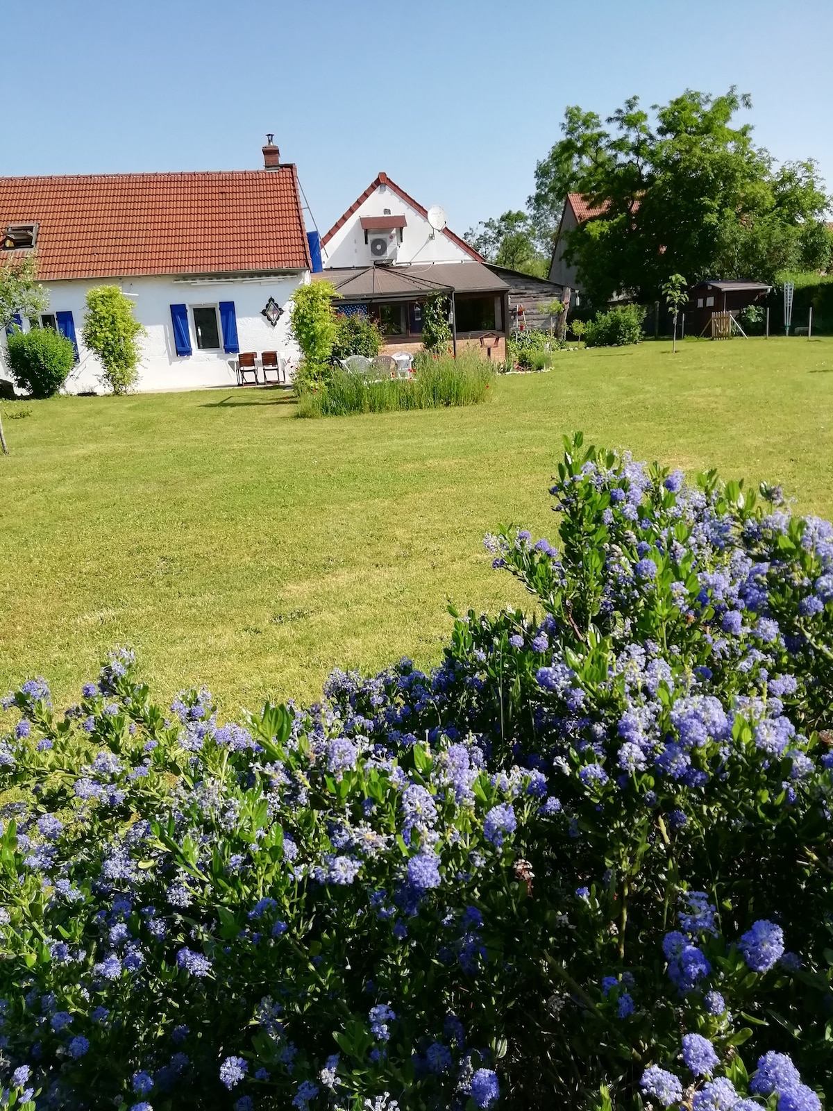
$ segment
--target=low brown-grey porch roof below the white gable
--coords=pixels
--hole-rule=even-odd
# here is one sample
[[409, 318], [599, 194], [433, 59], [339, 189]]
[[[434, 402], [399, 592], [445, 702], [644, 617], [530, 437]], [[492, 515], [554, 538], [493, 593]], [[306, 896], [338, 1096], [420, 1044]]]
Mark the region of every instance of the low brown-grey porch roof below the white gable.
[[428, 262], [421, 266], [349, 267], [313, 274], [330, 281], [348, 301], [421, 298], [438, 290], [505, 293], [509, 287], [481, 262]]

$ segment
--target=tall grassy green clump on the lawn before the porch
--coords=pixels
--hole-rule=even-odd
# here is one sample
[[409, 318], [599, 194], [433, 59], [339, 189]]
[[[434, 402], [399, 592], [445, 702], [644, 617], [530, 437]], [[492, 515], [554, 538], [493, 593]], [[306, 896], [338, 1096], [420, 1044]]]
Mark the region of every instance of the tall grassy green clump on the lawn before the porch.
[[347, 417], [349, 413], [441, 409], [485, 401], [492, 368], [478, 354], [423, 356], [411, 380], [377, 378], [379, 371], [351, 373], [335, 368], [320, 388], [301, 394], [299, 417]]

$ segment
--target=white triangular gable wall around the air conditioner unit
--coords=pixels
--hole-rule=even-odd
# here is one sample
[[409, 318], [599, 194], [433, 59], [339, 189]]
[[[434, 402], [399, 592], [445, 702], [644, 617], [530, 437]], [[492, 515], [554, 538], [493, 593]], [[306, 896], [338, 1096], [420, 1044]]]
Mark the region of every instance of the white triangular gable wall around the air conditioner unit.
[[[389, 186], [380, 184], [355, 210], [347, 223], [339, 228], [329, 243], [322, 247], [324, 269], [331, 267], [369, 267], [373, 259], [370, 246], [364, 242], [361, 226], [363, 216], [383, 216], [390, 209], [391, 216], [404, 216], [408, 227], [402, 229], [402, 242], [397, 256], [397, 264], [403, 262], [471, 262], [461, 247], [441, 231], [433, 231], [428, 220], [415, 208], [404, 201]], [[433, 234], [433, 239], [431, 236]]]

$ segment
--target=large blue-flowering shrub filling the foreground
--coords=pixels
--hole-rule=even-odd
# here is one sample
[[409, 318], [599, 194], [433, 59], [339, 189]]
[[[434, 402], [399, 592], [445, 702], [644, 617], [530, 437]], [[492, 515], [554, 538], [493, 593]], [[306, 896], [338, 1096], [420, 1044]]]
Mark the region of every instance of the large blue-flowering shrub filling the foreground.
[[221, 723], [118, 651], [0, 730], [9, 1107], [820, 1111], [833, 529], [566, 444], [532, 613]]

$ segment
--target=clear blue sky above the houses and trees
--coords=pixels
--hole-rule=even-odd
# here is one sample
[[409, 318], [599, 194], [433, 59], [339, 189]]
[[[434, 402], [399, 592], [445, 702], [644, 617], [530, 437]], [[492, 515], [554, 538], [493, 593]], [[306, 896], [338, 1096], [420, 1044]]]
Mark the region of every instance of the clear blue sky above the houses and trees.
[[379, 170], [452, 229], [523, 207], [566, 104], [750, 92], [833, 191], [833, 0], [0, 0], [0, 173], [298, 163], [319, 228]]

